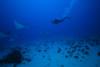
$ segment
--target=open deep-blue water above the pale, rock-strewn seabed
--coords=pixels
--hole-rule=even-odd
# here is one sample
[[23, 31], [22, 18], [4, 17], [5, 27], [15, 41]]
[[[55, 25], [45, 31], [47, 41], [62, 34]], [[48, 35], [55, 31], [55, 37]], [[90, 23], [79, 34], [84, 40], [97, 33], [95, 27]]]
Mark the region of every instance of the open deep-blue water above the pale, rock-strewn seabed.
[[[0, 32], [9, 36], [0, 41], [6, 46], [44, 39], [100, 38], [99, 0], [0, 0], [0, 6]], [[71, 19], [52, 24], [65, 16]], [[15, 21], [24, 28], [16, 29]]]

